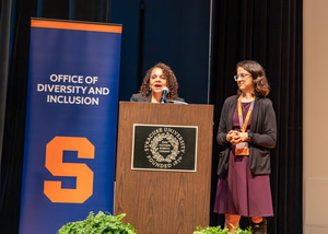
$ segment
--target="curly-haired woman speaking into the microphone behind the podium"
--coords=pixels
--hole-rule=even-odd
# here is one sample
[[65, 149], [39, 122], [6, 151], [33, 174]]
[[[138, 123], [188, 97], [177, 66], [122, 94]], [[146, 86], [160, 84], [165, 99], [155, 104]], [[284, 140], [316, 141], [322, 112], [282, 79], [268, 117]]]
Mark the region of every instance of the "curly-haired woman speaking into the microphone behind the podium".
[[145, 73], [140, 91], [133, 94], [131, 102], [164, 103], [168, 101], [184, 102], [177, 94], [178, 83], [171, 68], [159, 62]]

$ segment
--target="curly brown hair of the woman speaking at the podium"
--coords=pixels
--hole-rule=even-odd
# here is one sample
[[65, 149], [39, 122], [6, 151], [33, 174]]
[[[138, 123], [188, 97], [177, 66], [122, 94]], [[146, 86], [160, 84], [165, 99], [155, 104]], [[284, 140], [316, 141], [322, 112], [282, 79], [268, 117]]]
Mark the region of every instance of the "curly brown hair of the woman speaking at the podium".
[[171, 70], [171, 68], [167, 65], [165, 65], [163, 62], [159, 62], [157, 65], [155, 65], [154, 67], [152, 67], [151, 69], [149, 69], [147, 71], [139, 92], [142, 93], [142, 95], [144, 97], [147, 97], [151, 93], [151, 90], [149, 86], [150, 78], [151, 78], [151, 73], [152, 73], [153, 69], [155, 69], [155, 68], [162, 69], [162, 71], [166, 78], [167, 87], [168, 87], [167, 98], [175, 100], [177, 97], [178, 83], [177, 83], [174, 72]]

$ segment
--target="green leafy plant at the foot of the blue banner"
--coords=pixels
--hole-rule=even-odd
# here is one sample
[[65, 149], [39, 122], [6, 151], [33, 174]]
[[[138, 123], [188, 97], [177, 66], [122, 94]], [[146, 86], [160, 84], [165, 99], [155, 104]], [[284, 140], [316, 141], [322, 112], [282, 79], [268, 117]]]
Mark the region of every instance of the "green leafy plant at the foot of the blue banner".
[[57, 234], [136, 234], [133, 226], [129, 223], [122, 223], [125, 213], [113, 217], [99, 211], [95, 217], [90, 212], [83, 221], [77, 221], [63, 225]]

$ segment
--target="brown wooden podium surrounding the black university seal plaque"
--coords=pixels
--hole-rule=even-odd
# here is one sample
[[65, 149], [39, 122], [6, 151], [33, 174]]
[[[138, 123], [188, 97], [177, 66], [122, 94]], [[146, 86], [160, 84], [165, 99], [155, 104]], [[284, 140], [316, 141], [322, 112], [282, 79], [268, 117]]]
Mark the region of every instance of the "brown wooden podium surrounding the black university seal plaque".
[[[132, 168], [136, 124], [196, 126], [195, 171]], [[198, 225], [208, 226], [212, 133], [211, 105], [120, 102], [114, 214], [127, 213], [124, 222], [138, 234], [191, 234]]]

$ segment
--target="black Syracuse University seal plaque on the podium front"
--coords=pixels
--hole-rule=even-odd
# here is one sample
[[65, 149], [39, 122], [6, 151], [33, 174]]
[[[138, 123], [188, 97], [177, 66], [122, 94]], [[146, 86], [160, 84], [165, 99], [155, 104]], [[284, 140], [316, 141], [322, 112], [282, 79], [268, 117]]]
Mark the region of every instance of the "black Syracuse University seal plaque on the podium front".
[[132, 169], [196, 172], [197, 127], [133, 126]]

